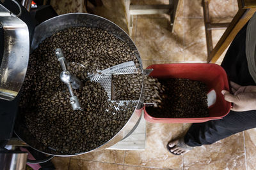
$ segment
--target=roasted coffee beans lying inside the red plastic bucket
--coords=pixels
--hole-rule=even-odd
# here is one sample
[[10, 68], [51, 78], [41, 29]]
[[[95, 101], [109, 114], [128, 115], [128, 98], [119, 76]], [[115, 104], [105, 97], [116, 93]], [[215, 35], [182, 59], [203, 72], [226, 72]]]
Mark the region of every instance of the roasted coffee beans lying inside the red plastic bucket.
[[147, 113], [157, 118], [209, 117], [207, 87], [201, 81], [159, 79], [164, 86], [159, 106], [148, 107]]

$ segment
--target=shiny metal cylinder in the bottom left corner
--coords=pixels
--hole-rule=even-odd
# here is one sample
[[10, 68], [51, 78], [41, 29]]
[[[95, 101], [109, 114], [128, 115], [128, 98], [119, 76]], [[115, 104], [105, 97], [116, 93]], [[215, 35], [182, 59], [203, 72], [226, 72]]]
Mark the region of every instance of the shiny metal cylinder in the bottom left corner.
[[24, 170], [26, 169], [28, 153], [5, 152], [0, 153], [0, 169], [2, 170]]

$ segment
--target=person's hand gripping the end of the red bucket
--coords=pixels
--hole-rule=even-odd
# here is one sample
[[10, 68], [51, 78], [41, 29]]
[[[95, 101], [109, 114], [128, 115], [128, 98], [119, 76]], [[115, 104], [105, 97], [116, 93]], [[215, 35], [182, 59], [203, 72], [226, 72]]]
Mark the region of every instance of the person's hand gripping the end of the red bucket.
[[241, 86], [237, 83], [230, 82], [233, 94], [227, 90], [222, 90], [224, 99], [233, 103], [231, 110], [233, 111], [248, 111], [256, 110], [256, 86]]

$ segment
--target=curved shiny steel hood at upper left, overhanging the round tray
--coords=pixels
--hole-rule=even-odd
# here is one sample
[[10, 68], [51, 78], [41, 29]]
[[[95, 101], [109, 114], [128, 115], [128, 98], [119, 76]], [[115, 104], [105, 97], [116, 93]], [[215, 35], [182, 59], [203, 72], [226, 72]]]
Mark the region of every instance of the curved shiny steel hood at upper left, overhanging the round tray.
[[27, 25], [0, 4], [0, 26], [4, 30], [4, 53], [0, 66], [0, 99], [13, 100], [24, 81], [29, 59]]

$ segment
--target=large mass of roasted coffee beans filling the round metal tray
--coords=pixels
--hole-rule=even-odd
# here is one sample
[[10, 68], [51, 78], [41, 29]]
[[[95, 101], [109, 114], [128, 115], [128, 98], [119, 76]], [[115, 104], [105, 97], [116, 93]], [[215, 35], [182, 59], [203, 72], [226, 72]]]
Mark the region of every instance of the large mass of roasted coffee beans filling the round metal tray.
[[[67, 69], [84, 84], [74, 90], [83, 111], [71, 108], [67, 85], [60, 80], [56, 48], [63, 50]], [[109, 141], [129, 120], [136, 103], [114, 107], [118, 104], [108, 101], [104, 88], [86, 77], [130, 60], [138, 66], [127, 44], [100, 29], [72, 27], [45, 39], [29, 57], [22, 87], [20, 113], [29, 132], [64, 154], [88, 152]]]

